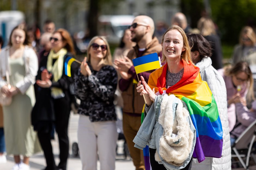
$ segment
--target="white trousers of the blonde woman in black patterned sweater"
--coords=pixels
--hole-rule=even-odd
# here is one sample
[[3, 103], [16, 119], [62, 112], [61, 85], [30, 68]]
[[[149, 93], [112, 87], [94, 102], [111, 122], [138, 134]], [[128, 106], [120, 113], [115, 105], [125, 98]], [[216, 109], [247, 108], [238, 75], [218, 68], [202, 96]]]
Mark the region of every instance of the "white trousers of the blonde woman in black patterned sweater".
[[97, 170], [97, 151], [100, 169], [115, 169], [117, 145], [115, 121], [91, 122], [89, 116], [80, 115], [77, 136], [83, 170]]

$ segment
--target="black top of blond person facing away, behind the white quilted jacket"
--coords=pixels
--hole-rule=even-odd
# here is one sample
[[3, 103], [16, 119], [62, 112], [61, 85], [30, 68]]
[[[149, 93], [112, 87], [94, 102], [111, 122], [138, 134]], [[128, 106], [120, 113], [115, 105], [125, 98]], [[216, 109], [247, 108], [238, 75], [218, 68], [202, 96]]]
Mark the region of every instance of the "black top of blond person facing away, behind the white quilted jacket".
[[209, 41], [212, 47], [212, 66], [218, 70], [223, 67], [222, 64], [222, 48], [220, 37], [217, 35], [205, 36], [205, 39]]

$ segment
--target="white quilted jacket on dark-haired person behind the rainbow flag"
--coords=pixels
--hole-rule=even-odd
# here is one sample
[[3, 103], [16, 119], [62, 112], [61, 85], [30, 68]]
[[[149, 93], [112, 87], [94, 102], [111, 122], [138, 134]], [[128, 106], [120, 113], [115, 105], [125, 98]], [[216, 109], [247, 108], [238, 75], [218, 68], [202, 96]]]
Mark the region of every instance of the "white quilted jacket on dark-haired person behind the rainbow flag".
[[220, 120], [223, 129], [223, 148], [221, 158], [206, 157], [205, 161], [198, 163], [193, 159], [191, 170], [231, 170], [231, 147], [227, 116], [227, 90], [222, 76], [212, 67], [210, 57], [204, 57], [196, 63], [200, 68], [200, 74], [203, 81], [208, 83], [209, 88], [216, 100]]

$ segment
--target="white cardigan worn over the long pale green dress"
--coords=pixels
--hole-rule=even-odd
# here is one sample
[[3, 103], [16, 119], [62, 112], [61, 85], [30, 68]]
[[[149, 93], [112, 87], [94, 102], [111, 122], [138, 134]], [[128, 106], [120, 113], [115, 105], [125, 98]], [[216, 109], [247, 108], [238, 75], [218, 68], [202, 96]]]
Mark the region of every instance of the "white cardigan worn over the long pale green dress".
[[[8, 63], [10, 46], [5, 47], [0, 53], [0, 89], [7, 84], [3, 77], [6, 76], [6, 69], [11, 75], [10, 65]], [[28, 46], [25, 46], [22, 58], [25, 63], [25, 77], [22, 81], [17, 82], [16, 87], [22, 94], [25, 94], [28, 88], [35, 84], [35, 76], [38, 71], [38, 59], [35, 51]]]

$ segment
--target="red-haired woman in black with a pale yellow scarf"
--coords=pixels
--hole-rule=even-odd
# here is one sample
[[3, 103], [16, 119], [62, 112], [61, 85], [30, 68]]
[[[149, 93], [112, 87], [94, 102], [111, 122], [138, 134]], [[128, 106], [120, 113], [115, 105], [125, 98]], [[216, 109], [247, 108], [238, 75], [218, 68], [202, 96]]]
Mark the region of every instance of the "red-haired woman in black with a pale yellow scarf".
[[[47, 69], [41, 71], [41, 80], [36, 81], [37, 85], [41, 87], [41, 92], [38, 91], [40, 93], [36, 101], [38, 103], [35, 104], [32, 114], [40, 116], [37, 117], [34, 128], [38, 131], [38, 137], [44, 150], [47, 163], [45, 170], [66, 170], [69, 154], [68, 121], [72, 100], [69, 88], [73, 80], [65, 75], [64, 63], [67, 57], [72, 57], [75, 54], [75, 51], [72, 38], [64, 29], [55, 31], [50, 37], [50, 41], [52, 49], [47, 58]], [[71, 67], [71, 75], [74, 73], [72, 68], [74, 67]], [[42, 99], [42, 97], [45, 98]], [[60, 162], [57, 167], [51, 146], [53, 124], [58, 134], [60, 148]]]

